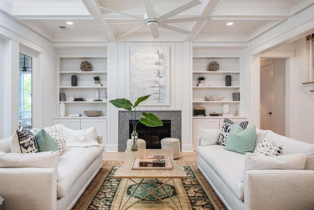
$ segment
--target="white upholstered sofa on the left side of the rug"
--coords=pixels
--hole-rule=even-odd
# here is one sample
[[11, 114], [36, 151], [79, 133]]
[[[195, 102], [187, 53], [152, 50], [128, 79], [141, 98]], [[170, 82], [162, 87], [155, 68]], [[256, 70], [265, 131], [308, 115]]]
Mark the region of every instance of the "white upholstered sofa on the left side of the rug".
[[[10, 152], [10, 140], [0, 139], [0, 151]], [[102, 144], [102, 136], [97, 141]], [[58, 157], [58, 172], [52, 168], [0, 168], [5, 209], [71, 209], [102, 167], [103, 151], [104, 145], [67, 147]]]

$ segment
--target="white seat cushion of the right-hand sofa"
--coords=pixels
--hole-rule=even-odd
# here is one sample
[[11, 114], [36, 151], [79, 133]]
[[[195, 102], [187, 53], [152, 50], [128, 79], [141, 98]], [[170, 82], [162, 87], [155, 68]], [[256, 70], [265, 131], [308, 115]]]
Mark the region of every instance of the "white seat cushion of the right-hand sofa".
[[197, 153], [216, 171], [235, 195], [243, 200], [243, 169], [245, 155], [224, 150], [224, 146], [199, 146]]

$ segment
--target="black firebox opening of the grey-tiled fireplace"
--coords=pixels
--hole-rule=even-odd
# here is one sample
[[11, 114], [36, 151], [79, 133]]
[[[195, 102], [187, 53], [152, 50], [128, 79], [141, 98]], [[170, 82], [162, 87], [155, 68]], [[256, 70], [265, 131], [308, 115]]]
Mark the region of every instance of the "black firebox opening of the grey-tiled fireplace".
[[[138, 120], [136, 120], [137, 122]], [[149, 127], [141, 122], [137, 123], [136, 133], [139, 139], [144, 139], [146, 149], [161, 149], [160, 141], [163, 138], [171, 137], [171, 120], [161, 120], [163, 125], [158, 127]], [[133, 132], [132, 120], [129, 120], [129, 138]]]

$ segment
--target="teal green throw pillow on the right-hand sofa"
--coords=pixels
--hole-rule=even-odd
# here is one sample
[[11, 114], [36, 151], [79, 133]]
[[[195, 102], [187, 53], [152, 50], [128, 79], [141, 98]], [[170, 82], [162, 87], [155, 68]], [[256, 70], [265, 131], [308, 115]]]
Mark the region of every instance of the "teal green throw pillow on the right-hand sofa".
[[255, 142], [255, 126], [251, 126], [243, 130], [243, 128], [235, 122], [235, 124], [230, 129], [230, 133], [227, 137], [227, 142], [224, 149], [245, 154], [247, 152], [254, 151]]

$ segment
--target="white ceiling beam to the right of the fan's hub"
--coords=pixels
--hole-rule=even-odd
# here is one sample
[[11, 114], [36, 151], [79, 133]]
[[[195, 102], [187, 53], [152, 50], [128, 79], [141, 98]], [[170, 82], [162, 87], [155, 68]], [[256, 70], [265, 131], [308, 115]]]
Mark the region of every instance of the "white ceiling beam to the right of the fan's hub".
[[[201, 4], [201, 15], [212, 15], [218, 8], [222, 0], [204, 0]], [[197, 21], [193, 23], [191, 33], [186, 35], [184, 41], [192, 41], [194, 37], [202, 30], [207, 21]]]

